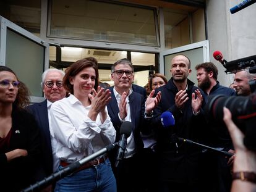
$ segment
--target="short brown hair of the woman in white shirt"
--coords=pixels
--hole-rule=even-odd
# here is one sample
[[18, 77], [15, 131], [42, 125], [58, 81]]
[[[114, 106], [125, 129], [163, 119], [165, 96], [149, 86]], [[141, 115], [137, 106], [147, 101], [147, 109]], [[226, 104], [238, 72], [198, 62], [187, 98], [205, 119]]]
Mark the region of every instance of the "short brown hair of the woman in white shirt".
[[65, 71], [66, 74], [63, 77], [63, 86], [69, 93], [74, 94], [74, 87], [71, 85], [69, 78], [75, 77], [75, 75], [87, 67], [92, 67], [95, 70], [96, 78], [94, 88], [97, 90], [99, 84], [98, 61], [94, 57], [86, 57], [74, 62]]

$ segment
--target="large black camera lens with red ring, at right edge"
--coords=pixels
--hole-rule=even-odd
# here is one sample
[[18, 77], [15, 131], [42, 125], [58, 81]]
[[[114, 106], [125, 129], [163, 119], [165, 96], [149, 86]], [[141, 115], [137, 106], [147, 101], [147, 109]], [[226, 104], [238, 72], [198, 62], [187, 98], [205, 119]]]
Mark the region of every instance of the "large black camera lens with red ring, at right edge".
[[[208, 123], [215, 126], [218, 133], [226, 128], [223, 122], [223, 107], [227, 107], [232, 114], [233, 122], [245, 134], [244, 144], [248, 149], [256, 151], [256, 94], [252, 96], [209, 96], [205, 113]], [[228, 131], [226, 129], [226, 131]]]

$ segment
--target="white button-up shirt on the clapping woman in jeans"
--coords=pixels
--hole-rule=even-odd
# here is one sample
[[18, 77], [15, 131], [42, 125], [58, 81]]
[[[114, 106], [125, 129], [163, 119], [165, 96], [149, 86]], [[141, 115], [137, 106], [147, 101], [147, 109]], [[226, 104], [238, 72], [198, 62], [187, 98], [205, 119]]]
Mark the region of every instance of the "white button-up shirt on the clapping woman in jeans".
[[116, 130], [109, 115], [103, 123], [100, 115], [93, 121], [88, 117], [90, 109], [91, 106], [84, 107], [72, 94], [52, 104], [51, 127], [58, 141], [56, 155], [60, 160], [80, 161], [114, 143]]

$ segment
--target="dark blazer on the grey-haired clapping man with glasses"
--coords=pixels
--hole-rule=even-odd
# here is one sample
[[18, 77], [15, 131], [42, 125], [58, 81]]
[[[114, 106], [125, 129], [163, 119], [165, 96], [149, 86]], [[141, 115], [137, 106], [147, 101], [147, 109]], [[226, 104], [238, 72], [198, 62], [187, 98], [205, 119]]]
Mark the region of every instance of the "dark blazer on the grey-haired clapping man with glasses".
[[[111, 118], [111, 122], [116, 129], [116, 141], [120, 139], [120, 127], [122, 122], [119, 120], [118, 113], [119, 107], [117, 105], [116, 97], [114, 96], [113, 86], [109, 88], [111, 91], [111, 101], [108, 104], [108, 114]], [[135, 147], [140, 150], [143, 149], [143, 141], [140, 136], [140, 131], [143, 131], [143, 122], [144, 120], [144, 112], [145, 112], [145, 101], [143, 100], [143, 96], [139, 93], [133, 92], [129, 96], [130, 101], [130, 115], [132, 119], [132, 133], [134, 134]], [[147, 121], [146, 121], [147, 122]], [[145, 126], [144, 126], [145, 127]]]

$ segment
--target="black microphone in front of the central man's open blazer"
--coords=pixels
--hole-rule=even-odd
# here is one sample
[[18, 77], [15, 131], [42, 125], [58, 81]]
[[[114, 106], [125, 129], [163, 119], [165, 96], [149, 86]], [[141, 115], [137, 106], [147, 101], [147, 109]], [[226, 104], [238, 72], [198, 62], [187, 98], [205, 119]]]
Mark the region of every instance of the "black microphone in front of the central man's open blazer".
[[126, 149], [127, 138], [129, 138], [130, 133], [132, 133], [132, 123], [128, 121], [123, 122], [120, 128], [121, 138], [118, 142], [119, 148], [117, 150], [116, 163], [114, 164], [115, 167], [118, 166], [119, 161], [121, 161], [124, 157], [124, 150]]

